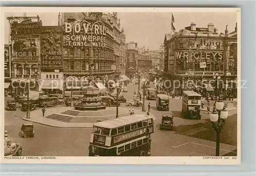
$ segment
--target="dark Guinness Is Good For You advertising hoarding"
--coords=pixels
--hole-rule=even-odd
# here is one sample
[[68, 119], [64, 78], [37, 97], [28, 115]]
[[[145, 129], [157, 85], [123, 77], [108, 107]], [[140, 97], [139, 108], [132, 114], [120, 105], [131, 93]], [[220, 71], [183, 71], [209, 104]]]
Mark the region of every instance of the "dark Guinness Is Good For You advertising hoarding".
[[41, 27], [41, 69], [62, 69], [62, 27]]

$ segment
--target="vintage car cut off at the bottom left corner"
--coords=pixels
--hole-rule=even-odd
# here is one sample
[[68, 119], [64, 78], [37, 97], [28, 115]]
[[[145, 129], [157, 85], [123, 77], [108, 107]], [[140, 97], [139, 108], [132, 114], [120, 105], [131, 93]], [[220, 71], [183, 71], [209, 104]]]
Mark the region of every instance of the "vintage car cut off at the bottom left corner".
[[5, 138], [5, 156], [22, 156], [22, 146]]

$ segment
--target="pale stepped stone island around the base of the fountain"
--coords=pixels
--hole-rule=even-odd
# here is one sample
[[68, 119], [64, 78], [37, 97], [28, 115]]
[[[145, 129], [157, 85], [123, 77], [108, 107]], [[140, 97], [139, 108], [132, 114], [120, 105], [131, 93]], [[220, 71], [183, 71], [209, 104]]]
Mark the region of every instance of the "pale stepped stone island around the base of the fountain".
[[[119, 107], [119, 117], [129, 115], [129, 108]], [[134, 109], [135, 114], [145, 114]], [[94, 123], [116, 118], [116, 107], [106, 107], [97, 111], [79, 111], [74, 107], [56, 107], [46, 109], [45, 117], [42, 117], [41, 110], [30, 112], [30, 119], [25, 116], [23, 120], [43, 125], [63, 128], [90, 128]]]

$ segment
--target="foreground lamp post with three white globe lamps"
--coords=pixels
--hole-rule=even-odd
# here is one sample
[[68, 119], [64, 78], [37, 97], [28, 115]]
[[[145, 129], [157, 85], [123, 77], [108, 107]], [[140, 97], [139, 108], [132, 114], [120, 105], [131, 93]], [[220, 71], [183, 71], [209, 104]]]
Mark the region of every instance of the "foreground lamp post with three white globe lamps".
[[214, 111], [210, 114], [210, 121], [212, 123], [212, 127], [215, 129], [217, 133], [216, 156], [220, 156], [220, 133], [227, 117], [228, 112], [226, 110], [224, 102], [219, 99], [219, 101], [217, 101], [215, 104]]

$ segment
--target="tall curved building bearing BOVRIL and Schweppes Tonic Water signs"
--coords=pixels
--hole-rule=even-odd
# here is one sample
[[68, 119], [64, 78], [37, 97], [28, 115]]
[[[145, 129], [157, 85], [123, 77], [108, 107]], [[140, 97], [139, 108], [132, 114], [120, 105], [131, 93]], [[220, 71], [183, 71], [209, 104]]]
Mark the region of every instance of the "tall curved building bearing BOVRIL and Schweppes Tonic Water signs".
[[[111, 79], [116, 72], [112, 15], [63, 13], [62, 16], [64, 79], [71, 83], [73, 76], [73, 89], [80, 89], [80, 82], [89, 75]], [[66, 85], [66, 89], [70, 90], [71, 85]]]

